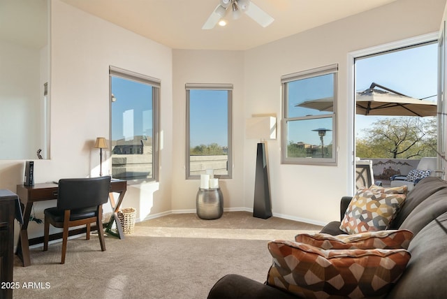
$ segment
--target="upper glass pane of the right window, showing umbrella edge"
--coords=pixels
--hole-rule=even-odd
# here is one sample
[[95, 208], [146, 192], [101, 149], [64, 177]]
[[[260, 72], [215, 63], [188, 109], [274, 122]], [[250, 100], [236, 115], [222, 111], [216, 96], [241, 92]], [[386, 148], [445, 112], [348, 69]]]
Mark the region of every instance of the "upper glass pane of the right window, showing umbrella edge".
[[332, 114], [334, 74], [319, 75], [287, 83], [288, 117]]

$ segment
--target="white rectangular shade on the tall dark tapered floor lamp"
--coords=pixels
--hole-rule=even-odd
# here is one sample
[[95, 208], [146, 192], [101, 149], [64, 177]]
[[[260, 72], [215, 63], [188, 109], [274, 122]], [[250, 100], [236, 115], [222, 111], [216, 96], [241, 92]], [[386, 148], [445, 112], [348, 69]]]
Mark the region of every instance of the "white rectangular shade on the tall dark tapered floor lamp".
[[276, 139], [277, 118], [271, 116], [247, 118], [245, 137], [247, 139]]

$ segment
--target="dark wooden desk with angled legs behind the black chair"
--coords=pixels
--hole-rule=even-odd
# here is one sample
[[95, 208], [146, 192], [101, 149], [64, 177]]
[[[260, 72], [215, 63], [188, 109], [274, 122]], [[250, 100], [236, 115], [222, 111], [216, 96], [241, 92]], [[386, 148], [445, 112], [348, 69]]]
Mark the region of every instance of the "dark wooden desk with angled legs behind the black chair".
[[[126, 194], [126, 190], [126, 181], [112, 180], [112, 182], [110, 182], [109, 201], [110, 205], [112, 206], [113, 213], [112, 217], [110, 217], [110, 221], [105, 224], [105, 232], [115, 235], [120, 239], [124, 239], [124, 233], [122, 231], [121, 222], [118, 218], [118, 211], [119, 207], [121, 207], [124, 194]], [[23, 261], [24, 267], [31, 265], [29, 246], [43, 243], [43, 236], [34, 239], [28, 239], [28, 223], [33, 203], [36, 203], [38, 201], [57, 199], [58, 191], [59, 187], [57, 186], [57, 184], [54, 183], [35, 184], [34, 186], [17, 185], [17, 195], [20, 198], [20, 203], [22, 204], [23, 209], [23, 224], [20, 228], [19, 242], [17, 244], [16, 254]], [[113, 193], [119, 194], [117, 201], [115, 201]], [[118, 233], [112, 231], [113, 222], [116, 223]], [[96, 226], [92, 226], [91, 230], [94, 231], [95, 229], [97, 229]], [[80, 233], [85, 233], [85, 231], [85, 228], [77, 228], [69, 231], [68, 235], [78, 235]], [[54, 233], [50, 235], [50, 240], [57, 240], [61, 238], [62, 233]]]

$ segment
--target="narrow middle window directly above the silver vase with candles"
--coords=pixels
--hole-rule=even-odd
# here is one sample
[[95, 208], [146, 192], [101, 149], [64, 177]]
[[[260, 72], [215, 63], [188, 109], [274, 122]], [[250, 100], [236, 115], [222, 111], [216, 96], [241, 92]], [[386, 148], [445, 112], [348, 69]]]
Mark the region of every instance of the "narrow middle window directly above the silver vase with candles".
[[233, 85], [186, 84], [186, 178], [231, 178]]

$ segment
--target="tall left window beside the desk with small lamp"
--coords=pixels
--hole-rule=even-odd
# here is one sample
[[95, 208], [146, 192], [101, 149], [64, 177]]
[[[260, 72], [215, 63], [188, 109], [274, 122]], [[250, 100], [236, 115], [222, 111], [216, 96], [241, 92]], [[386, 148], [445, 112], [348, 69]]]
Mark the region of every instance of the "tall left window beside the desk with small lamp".
[[157, 180], [160, 80], [110, 66], [112, 177]]

